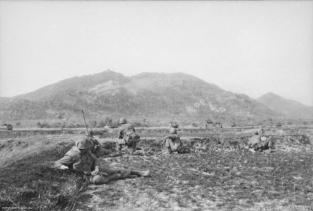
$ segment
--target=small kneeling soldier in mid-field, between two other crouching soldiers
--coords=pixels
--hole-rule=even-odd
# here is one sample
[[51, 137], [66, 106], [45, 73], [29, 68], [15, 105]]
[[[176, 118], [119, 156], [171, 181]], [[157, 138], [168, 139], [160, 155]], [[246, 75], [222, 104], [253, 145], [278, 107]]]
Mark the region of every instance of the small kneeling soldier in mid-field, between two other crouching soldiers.
[[163, 149], [164, 154], [170, 154], [173, 152], [178, 152], [182, 149], [182, 141], [180, 140], [179, 135], [177, 135], [176, 128], [170, 128], [170, 135], [164, 138], [165, 149]]

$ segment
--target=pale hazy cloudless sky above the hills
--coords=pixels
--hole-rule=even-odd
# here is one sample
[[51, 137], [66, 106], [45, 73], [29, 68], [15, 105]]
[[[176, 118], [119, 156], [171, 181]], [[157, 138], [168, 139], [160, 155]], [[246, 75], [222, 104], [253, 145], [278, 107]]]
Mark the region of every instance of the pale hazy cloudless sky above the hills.
[[106, 69], [313, 105], [313, 1], [0, 1], [0, 96]]

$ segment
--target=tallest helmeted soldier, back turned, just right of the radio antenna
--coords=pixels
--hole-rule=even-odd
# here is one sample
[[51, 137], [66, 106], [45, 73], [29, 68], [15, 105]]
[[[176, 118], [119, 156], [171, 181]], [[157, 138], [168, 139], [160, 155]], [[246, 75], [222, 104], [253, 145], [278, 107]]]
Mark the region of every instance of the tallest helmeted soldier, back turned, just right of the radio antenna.
[[135, 155], [137, 143], [140, 141], [139, 135], [135, 133], [135, 128], [127, 123], [125, 118], [120, 118], [120, 128], [118, 128], [118, 138], [116, 139], [116, 149], [122, 155], [122, 145], [127, 146], [127, 153]]

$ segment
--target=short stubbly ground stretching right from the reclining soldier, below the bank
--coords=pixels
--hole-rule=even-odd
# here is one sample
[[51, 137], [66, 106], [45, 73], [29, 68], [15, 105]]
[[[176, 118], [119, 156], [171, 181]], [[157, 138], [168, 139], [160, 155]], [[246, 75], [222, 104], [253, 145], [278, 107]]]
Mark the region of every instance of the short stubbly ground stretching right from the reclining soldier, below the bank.
[[[313, 206], [312, 151], [246, 151], [106, 158], [150, 178], [90, 186], [79, 210], [258, 210]], [[84, 199], [88, 199], [84, 201]], [[81, 203], [83, 201], [83, 203]]]

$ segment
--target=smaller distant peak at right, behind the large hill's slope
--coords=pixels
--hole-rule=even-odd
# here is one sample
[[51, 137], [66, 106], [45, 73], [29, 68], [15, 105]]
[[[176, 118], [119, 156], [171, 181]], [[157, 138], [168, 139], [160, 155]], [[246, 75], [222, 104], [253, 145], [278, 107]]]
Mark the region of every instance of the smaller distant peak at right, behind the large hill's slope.
[[313, 106], [303, 105], [302, 103], [290, 99], [284, 99], [272, 92], [260, 96], [257, 101], [289, 118], [313, 119]]

